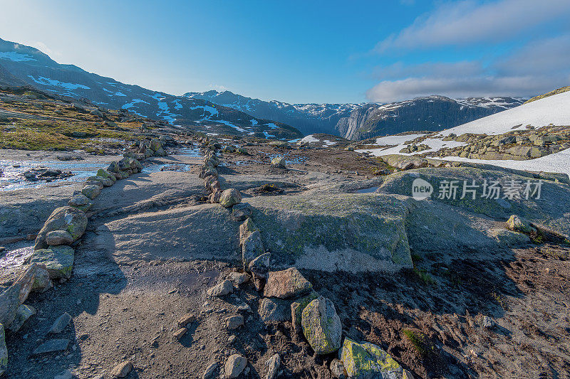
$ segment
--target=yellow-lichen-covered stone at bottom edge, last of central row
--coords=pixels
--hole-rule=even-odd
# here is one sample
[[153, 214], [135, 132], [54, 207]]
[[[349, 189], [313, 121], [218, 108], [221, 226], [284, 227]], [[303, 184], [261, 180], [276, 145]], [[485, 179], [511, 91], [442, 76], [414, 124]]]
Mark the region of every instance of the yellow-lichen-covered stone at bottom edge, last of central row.
[[403, 378], [403, 368], [373, 343], [344, 338], [339, 354], [348, 378]]

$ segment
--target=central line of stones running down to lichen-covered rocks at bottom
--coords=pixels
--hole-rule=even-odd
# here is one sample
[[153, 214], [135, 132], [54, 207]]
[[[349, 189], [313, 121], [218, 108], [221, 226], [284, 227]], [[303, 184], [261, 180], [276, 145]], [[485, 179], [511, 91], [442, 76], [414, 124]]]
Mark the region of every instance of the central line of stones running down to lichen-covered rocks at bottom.
[[[259, 302], [259, 316], [263, 321], [291, 321], [294, 338], [303, 336], [309, 342], [317, 355], [338, 352], [338, 359], [331, 362], [331, 371], [337, 378], [413, 378], [413, 375], [398, 364], [380, 346], [373, 343], [357, 343], [350, 338], [342, 338], [341, 320], [336, 313], [335, 306], [330, 299], [320, 296], [314, 291], [313, 285], [303, 277], [296, 267], [290, 267], [281, 271], [270, 271], [271, 253], [266, 252], [259, 228], [254, 225], [250, 216], [252, 206], [242, 203], [241, 193], [236, 188], [222, 189], [218, 178], [217, 166], [220, 161], [216, 156], [219, 144], [211, 142], [209, 138], [200, 137], [199, 143], [206, 149], [204, 164], [199, 177], [204, 179], [204, 186], [209, 192], [209, 203], [220, 203], [225, 208], [232, 208], [232, 216], [238, 221], [243, 221], [239, 226], [239, 244], [242, 247], [242, 265], [245, 274], [232, 272], [229, 279], [224, 279], [219, 284], [208, 289], [210, 297], [225, 297], [239, 290], [239, 284], [249, 280], [251, 274], [254, 287], [261, 293]], [[224, 149], [226, 152], [229, 151]], [[242, 153], [241, 151], [239, 151]], [[243, 153], [242, 153], [243, 154]], [[276, 157], [271, 161], [271, 166], [285, 167], [285, 159]], [[234, 277], [232, 277], [232, 274]], [[239, 279], [237, 279], [239, 277]], [[234, 286], [234, 283], [237, 285]], [[290, 304], [290, 318], [283, 302]], [[183, 316], [184, 317], [184, 316]], [[242, 316], [239, 318], [237, 327], [243, 325]], [[194, 319], [194, 318], [193, 318]], [[232, 317], [227, 319], [228, 329], [234, 322]], [[182, 323], [183, 324], [183, 323]], [[180, 326], [180, 325], [179, 325]], [[184, 335], [187, 329], [182, 327], [175, 332], [175, 337]], [[219, 362], [210, 364], [204, 371], [202, 378], [214, 378], [217, 368], [223, 373], [223, 378], [237, 378], [242, 373], [247, 373], [247, 358], [239, 354], [233, 354], [221, 365]], [[273, 379], [279, 373], [281, 357], [279, 354], [271, 356], [266, 362], [266, 374], [264, 378]]]

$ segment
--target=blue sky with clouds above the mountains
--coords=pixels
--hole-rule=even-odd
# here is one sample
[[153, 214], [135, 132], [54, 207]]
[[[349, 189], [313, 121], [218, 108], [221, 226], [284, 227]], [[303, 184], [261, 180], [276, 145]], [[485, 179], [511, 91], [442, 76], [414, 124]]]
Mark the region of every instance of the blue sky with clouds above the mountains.
[[0, 38], [174, 95], [530, 96], [570, 85], [570, 1], [1, 1]]

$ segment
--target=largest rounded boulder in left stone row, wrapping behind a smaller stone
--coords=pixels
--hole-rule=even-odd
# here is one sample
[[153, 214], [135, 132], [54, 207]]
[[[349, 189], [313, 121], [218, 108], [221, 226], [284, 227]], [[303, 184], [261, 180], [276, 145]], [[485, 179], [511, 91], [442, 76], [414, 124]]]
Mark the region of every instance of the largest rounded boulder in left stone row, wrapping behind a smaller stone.
[[75, 242], [85, 233], [86, 227], [87, 216], [83, 211], [70, 206], [56, 208], [39, 231], [33, 249], [38, 250], [48, 247], [46, 237], [53, 230], [65, 230], [71, 235], [73, 242]]

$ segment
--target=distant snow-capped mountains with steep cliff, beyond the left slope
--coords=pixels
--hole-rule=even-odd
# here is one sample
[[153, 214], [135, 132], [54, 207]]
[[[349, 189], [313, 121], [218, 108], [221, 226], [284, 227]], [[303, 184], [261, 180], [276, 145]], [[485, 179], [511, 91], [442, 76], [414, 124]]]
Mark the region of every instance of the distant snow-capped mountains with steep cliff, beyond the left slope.
[[361, 140], [412, 130], [437, 131], [455, 127], [521, 105], [513, 97], [472, 97], [453, 100], [443, 96], [380, 105], [289, 104], [266, 102], [229, 91], [187, 92], [185, 97], [208, 100], [256, 117], [293, 125], [304, 134], [328, 133]]

